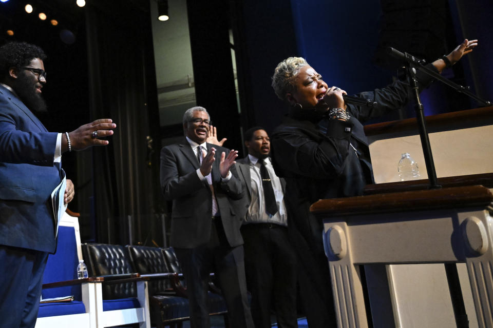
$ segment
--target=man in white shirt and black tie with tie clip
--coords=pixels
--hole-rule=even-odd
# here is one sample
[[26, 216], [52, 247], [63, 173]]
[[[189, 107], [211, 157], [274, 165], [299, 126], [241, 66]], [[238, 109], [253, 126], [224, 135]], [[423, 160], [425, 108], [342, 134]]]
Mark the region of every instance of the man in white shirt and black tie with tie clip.
[[249, 208], [241, 233], [253, 321], [256, 328], [270, 327], [273, 304], [280, 328], [297, 327], [297, 269], [288, 237], [286, 182], [272, 168], [270, 140], [264, 129], [245, 132], [245, 146], [248, 156], [238, 160], [237, 168], [248, 189]]

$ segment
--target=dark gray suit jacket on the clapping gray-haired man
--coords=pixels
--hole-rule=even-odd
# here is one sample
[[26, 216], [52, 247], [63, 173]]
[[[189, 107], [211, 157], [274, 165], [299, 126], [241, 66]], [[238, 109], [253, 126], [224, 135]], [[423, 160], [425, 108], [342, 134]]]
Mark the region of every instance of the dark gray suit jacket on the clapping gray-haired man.
[[[247, 201], [243, 197], [245, 188], [238, 179], [235, 166], [231, 168], [231, 179], [221, 181], [221, 152], [227, 154], [229, 150], [207, 144], [207, 150], [211, 147], [216, 148], [216, 160], [212, 167], [214, 193], [227, 241], [235, 247], [243, 244], [240, 227]], [[161, 188], [164, 198], [173, 201], [170, 238], [173, 247], [195, 248], [210, 239], [212, 192], [207, 182], [197, 176], [198, 168], [197, 157], [185, 138], [161, 150]]]

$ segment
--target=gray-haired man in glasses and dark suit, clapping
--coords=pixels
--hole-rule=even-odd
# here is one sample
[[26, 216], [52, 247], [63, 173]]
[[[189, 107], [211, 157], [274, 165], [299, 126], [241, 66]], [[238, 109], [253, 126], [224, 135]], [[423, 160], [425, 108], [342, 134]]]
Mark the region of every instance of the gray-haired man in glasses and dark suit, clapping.
[[170, 244], [185, 276], [192, 326], [210, 327], [207, 281], [214, 271], [231, 326], [252, 328], [240, 233], [245, 188], [234, 166], [238, 152], [208, 144], [210, 124], [205, 108], [188, 109], [185, 138], [161, 150], [161, 188], [173, 201]]

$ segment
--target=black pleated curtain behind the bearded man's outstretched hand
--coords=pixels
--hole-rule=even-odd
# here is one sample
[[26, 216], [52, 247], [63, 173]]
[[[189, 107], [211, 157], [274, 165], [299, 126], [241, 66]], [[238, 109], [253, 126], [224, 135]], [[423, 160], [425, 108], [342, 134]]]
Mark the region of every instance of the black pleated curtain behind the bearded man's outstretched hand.
[[[81, 212], [90, 241], [162, 242], [159, 119], [146, 2], [94, 2], [86, 9], [91, 120], [117, 124], [110, 145], [78, 153]], [[154, 140], [155, 145], [149, 141]], [[149, 148], [154, 146], [154, 148]], [[88, 232], [88, 233], [87, 233]]]

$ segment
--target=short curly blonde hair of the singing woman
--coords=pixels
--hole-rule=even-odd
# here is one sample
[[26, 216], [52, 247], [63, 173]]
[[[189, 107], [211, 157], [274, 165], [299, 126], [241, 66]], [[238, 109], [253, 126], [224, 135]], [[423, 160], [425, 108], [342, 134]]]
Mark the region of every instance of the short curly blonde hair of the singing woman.
[[302, 57], [289, 57], [277, 64], [272, 75], [272, 88], [277, 97], [285, 100], [286, 94], [295, 90], [294, 77], [298, 75], [299, 70], [308, 63]]

